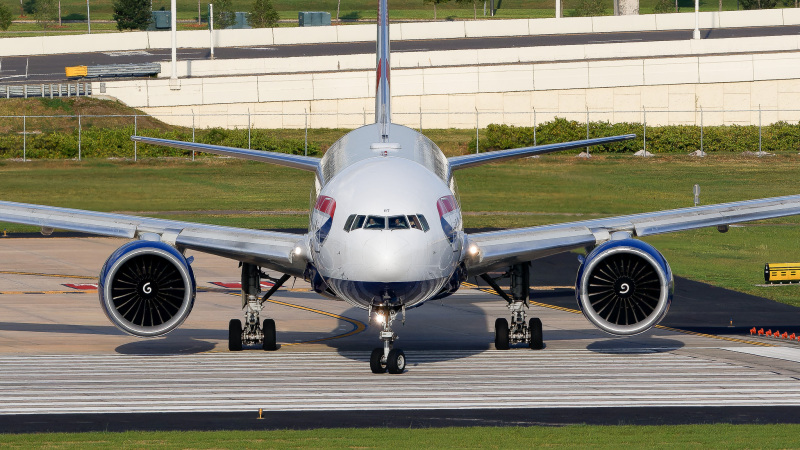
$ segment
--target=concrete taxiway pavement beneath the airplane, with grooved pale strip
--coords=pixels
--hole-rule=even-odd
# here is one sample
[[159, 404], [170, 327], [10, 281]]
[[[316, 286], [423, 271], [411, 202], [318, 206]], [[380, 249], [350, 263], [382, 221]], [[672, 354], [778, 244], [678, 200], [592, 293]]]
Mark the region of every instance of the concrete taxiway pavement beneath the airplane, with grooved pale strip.
[[[590, 416], [598, 414], [611, 423], [800, 420], [800, 343], [723, 330], [716, 322], [727, 319], [712, 314], [738, 298], [745, 314], [761, 314], [748, 323], [737, 316], [741, 328], [800, 325], [797, 308], [763, 299], [699, 283], [684, 290], [678, 280], [666, 326], [615, 338], [572, 309], [568, 280], [577, 263], [563, 255], [534, 266], [535, 284], [549, 286], [535, 291], [549, 306], [533, 307], [544, 323], [544, 350], [494, 350], [493, 324], [507, 315], [505, 302], [465, 288], [409, 310], [405, 325], [398, 320], [407, 371], [374, 375], [367, 360], [377, 330], [366, 312], [320, 298], [300, 281], [267, 306], [278, 324], [277, 352], [228, 352], [227, 321], [240, 316], [240, 300], [211, 283], [236, 282], [239, 272], [235, 262], [204, 254], [194, 255], [200, 292], [183, 326], [158, 339], [125, 335], [101, 311], [96, 291], [65, 286], [94, 282], [123, 242], [0, 239], [0, 431], [103, 429], [114, 421], [111, 429], [236, 428], [244, 423], [236, 417], [254, 419], [259, 409], [284, 419], [245, 427], [291, 427], [285, 417], [295, 426], [341, 426], [318, 420], [331, 410], [349, 426], [495, 424], [498, 410], [506, 424], [596, 423]], [[681, 321], [696, 328], [680, 331]], [[580, 413], [567, 418], [570, 408]]]

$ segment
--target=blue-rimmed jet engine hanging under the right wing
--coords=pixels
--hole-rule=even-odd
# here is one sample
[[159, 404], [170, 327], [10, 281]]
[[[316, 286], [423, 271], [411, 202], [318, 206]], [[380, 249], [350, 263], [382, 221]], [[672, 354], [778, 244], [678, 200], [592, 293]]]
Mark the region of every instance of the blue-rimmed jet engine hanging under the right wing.
[[583, 315], [603, 331], [633, 335], [649, 330], [669, 310], [672, 270], [652, 245], [611, 240], [581, 264], [575, 296]]

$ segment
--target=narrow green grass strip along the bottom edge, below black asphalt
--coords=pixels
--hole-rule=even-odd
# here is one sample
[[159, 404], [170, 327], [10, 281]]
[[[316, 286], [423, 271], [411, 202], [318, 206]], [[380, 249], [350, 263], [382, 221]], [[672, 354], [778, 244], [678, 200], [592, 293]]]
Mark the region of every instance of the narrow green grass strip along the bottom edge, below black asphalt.
[[798, 425], [354, 428], [0, 435], [25, 448], [793, 448]]

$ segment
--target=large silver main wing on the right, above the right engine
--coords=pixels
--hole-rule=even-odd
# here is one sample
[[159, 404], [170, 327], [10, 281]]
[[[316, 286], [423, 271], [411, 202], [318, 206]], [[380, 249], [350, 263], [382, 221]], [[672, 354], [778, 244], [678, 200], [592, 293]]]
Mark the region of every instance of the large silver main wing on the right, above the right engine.
[[696, 206], [467, 236], [469, 275], [599, 245], [615, 232], [650, 236], [800, 214], [800, 195]]

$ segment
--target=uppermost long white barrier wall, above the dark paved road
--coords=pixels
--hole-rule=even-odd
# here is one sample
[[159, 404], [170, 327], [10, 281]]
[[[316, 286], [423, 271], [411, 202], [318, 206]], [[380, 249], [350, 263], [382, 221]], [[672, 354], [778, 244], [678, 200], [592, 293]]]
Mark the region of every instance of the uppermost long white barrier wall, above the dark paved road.
[[[700, 13], [701, 28], [798, 24], [800, 10], [794, 8]], [[694, 29], [694, 13], [397, 23], [392, 25], [390, 32], [391, 39], [397, 41], [691, 29]], [[210, 43], [206, 30], [179, 31], [177, 34], [181, 48], [202, 48]], [[375, 34], [373, 24], [214, 32], [217, 47], [362, 42], [374, 41]], [[0, 56], [165, 49], [170, 45], [169, 31], [3, 38], [0, 39]]]

